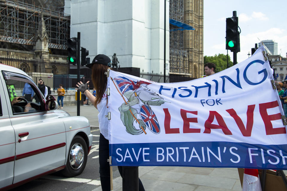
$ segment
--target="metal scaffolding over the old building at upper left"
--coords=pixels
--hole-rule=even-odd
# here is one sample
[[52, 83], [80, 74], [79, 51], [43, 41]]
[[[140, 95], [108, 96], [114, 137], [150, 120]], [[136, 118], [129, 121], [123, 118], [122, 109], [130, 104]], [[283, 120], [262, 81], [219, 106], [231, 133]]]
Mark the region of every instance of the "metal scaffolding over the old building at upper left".
[[62, 1], [45, 0], [38, 3], [45, 4], [45, 7], [0, 0], [0, 41], [34, 46], [42, 15], [48, 33], [48, 48], [67, 49], [70, 17], [64, 16]]

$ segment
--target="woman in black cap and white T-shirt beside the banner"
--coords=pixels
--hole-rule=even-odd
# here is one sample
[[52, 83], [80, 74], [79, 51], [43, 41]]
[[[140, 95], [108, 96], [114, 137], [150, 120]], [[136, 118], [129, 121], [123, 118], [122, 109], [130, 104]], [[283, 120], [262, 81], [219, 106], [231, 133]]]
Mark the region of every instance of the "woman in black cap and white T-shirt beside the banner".
[[[109, 140], [108, 140], [108, 119], [105, 115], [108, 113], [108, 98], [105, 91], [107, 90], [107, 76], [105, 72], [111, 66], [111, 59], [103, 54], [97, 55], [92, 63], [87, 64], [92, 69], [91, 78], [96, 90], [96, 96], [88, 90], [88, 83], [78, 82], [76, 85], [83, 94], [91, 101], [95, 108], [98, 109], [100, 141], [99, 141], [99, 162], [100, 162], [100, 180], [103, 191], [110, 191], [110, 166], [109, 159]], [[120, 175], [122, 176], [122, 166], [118, 166]], [[139, 179], [139, 191], [144, 191], [144, 186]]]

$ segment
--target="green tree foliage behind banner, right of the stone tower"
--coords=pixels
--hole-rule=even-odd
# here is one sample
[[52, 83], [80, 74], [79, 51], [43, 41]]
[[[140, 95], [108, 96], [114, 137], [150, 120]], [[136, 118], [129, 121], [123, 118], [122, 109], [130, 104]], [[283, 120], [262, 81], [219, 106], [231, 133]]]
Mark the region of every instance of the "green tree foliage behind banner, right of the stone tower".
[[[214, 56], [204, 56], [203, 62], [208, 63], [212, 62], [215, 64], [216, 69], [215, 72], [220, 72], [222, 70], [225, 70], [227, 68], [227, 58], [225, 54], [218, 54]], [[228, 55], [228, 67], [233, 66], [233, 62], [230, 60], [230, 56]]]

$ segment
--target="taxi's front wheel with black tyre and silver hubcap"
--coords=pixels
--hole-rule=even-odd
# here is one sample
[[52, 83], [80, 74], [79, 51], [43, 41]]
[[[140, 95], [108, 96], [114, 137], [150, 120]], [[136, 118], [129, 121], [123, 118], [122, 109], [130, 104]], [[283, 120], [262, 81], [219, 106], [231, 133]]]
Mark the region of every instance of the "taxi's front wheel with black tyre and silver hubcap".
[[66, 167], [62, 174], [74, 177], [83, 172], [88, 159], [88, 147], [83, 137], [76, 135], [71, 142]]

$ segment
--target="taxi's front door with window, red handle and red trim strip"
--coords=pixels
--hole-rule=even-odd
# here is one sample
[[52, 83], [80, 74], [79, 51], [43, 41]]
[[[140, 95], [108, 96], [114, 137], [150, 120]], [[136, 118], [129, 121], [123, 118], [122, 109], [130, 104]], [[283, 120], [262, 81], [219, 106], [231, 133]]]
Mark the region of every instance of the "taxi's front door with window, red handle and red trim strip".
[[[45, 111], [43, 95], [31, 79], [11, 72], [3, 72], [3, 76], [4, 94], [16, 136], [13, 184], [63, 167], [66, 158], [64, 123], [54, 111]], [[13, 103], [16, 97], [23, 95], [25, 83], [35, 92], [33, 100], [28, 104], [25, 101]]]

